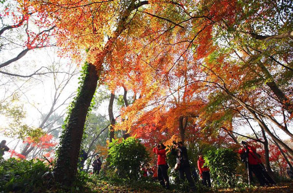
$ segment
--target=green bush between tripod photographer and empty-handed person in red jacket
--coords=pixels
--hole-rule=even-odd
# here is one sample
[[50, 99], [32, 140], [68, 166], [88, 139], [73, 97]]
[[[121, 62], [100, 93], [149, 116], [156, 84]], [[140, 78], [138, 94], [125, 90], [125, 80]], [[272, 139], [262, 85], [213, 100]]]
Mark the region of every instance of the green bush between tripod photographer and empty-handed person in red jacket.
[[218, 180], [221, 186], [234, 187], [236, 182], [237, 154], [231, 149], [220, 148], [209, 151], [205, 156], [211, 178]]

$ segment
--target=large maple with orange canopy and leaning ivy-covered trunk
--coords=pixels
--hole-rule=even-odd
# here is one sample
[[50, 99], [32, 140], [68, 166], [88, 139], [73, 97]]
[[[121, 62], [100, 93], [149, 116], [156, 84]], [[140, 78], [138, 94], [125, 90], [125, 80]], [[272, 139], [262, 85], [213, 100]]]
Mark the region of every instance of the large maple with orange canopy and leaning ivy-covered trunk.
[[[68, 176], [77, 172], [98, 80], [109, 86], [111, 102], [121, 87], [135, 99], [132, 104], [125, 100], [120, 120], [109, 105], [111, 139], [115, 129], [149, 145], [190, 142], [198, 128], [213, 139], [230, 136], [237, 141], [230, 131], [246, 115], [293, 155], [272, 132], [278, 128], [293, 138], [288, 129], [293, 109], [290, 1], [25, 2], [53, 20], [62, 54], [87, 61], [58, 151], [55, 172], [60, 181], [67, 176], [70, 184], [73, 178]], [[220, 133], [222, 128], [226, 132]]]

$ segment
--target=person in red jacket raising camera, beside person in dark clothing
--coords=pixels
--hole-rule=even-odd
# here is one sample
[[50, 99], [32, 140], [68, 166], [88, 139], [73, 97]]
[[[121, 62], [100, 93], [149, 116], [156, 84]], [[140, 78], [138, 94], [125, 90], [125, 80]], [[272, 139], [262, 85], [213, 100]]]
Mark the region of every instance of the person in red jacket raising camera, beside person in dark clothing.
[[[165, 187], [167, 190], [170, 189], [170, 182], [167, 173], [167, 162], [166, 162], [166, 146], [163, 143], [160, 143], [153, 148], [153, 152], [158, 155], [158, 180], [160, 184]], [[164, 182], [166, 181], [166, 184]]]

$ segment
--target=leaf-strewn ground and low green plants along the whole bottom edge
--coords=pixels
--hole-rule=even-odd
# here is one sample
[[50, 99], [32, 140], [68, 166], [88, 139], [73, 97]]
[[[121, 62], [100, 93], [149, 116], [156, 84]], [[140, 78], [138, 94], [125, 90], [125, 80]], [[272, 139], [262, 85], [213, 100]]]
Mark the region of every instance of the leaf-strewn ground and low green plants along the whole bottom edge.
[[[195, 193], [293, 193], [293, 181], [279, 182], [275, 187], [258, 187], [237, 184], [234, 189], [204, 187], [196, 183]], [[143, 177], [129, 180], [115, 171], [101, 172], [98, 176], [79, 172], [76, 181], [63, 186], [54, 180], [54, 173], [41, 160], [0, 160], [0, 193], [187, 193], [188, 183], [174, 185], [171, 190], [163, 189], [158, 181]]]

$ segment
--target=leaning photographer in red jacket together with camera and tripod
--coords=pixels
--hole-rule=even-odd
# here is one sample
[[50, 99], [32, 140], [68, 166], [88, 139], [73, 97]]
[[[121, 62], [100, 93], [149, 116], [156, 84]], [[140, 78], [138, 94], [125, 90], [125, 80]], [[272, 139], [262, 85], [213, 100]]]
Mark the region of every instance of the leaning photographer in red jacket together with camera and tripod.
[[247, 142], [242, 141], [243, 148], [239, 149], [238, 153], [241, 159], [247, 164], [249, 183], [251, 180], [251, 172], [256, 176], [261, 186], [275, 184], [271, 176], [267, 173], [264, 168], [259, 155], [256, 153], [255, 147], [249, 145]]

